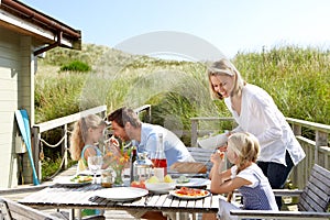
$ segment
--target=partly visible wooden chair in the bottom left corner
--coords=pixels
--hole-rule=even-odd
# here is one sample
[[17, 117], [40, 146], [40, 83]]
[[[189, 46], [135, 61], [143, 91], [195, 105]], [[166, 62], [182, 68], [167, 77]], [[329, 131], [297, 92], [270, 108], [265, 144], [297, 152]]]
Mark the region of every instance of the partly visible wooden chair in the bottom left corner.
[[0, 219], [1, 220], [59, 220], [59, 218], [44, 213], [40, 210], [0, 198]]

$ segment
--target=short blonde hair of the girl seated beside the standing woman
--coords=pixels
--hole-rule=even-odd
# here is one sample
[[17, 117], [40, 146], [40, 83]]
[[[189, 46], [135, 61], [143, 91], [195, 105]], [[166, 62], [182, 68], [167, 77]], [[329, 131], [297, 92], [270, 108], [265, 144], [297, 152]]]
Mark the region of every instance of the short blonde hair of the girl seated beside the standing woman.
[[246, 163], [256, 162], [260, 153], [260, 143], [253, 134], [249, 132], [233, 133], [229, 136], [228, 144], [239, 157], [238, 173]]

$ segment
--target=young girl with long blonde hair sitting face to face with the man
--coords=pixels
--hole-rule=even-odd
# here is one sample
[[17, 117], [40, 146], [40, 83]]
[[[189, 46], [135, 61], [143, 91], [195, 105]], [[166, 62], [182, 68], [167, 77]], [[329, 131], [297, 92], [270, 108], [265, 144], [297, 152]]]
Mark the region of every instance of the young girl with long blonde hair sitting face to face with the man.
[[77, 173], [88, 168], [88, 156], [102, 155], [95, 144], [103, 136], [106, 127], [105, 120], [96, 114], [84, 117], [75, 123], [70, 136], [70, 154], [74, 161], [78, 161]]

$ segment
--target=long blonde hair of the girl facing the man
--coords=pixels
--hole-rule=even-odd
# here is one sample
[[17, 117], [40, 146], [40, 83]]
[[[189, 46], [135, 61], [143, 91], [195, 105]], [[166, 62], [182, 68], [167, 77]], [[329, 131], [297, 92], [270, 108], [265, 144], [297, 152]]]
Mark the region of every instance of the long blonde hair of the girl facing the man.
[[74, 161], [80, 158], [81, 151], [85, 146], [85, 141], [88, 134], [88, 129], [98, 129], [101, 125], [107, 125], [106, 121], [96, 114], [88, 114], [80, 118], [74, 125], [70, 136], [70, 155]]

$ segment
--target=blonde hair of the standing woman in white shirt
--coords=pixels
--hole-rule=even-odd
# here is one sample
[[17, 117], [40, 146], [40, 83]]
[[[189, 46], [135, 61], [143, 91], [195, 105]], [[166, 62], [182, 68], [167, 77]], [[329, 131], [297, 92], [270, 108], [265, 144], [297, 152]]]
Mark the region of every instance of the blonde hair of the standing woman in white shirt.
[[241, 91], [242, 91], [243, 86], [246, 84], [243, 80], [240, 72], [227, 58], [222, 58], [218, 62], [212, 63], [207, 68], [207, 73], [208, 73], [208, 78], [209, 78], [210, 94], [211, 94], [212, 98], [223, 99], [221, 94], [219, 94], [215, 90], [215, 88], [212, 86], [212, 82], [211, 82], [211, 76], [228, 75], [228, 76], [234, 77], [234, 88], [233, 88], [232, 94], [230, 96], [240, 95]]

